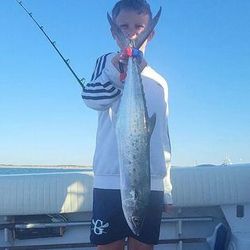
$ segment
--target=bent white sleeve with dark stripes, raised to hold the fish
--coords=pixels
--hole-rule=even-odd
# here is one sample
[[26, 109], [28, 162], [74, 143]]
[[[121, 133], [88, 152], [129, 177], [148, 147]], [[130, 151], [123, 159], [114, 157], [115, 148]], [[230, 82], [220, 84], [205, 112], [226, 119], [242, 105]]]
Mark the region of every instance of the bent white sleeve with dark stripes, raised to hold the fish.
[[111, 62], [113, 56], [114, 53], [109, 53], [99, 57], [90, 82], [83, 86], [82, 98], [92, 109], [106, 110], [121, 96], [122, 83]]

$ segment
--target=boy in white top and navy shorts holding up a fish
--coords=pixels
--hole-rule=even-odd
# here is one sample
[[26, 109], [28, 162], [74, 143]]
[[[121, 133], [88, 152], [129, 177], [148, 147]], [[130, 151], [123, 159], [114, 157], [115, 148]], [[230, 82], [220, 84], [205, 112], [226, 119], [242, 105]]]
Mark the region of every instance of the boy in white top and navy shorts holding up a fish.
[[[147, 27], [152, 13], [145, 0], [120, 0], [112, 10], [112, 19], [125, 37], [133, 40]], [[113, 30], [111, 32], [121, 48], [116, 34]], [[141, 46], [142, 53], [153, 35], [154, 32]], [[153, 245], [159, 240], [162, 205], [172, 203], [167, 83], [147, 65], [144, 58], [139, 67], [149, 116], [156, 113], [156, 125], [150, 142], [150, 204], [139, 236], [134, 235], [127, 225], [119, 190], [115, 116], [123, 91], [121, 71], [126, 71], [124, 54], [109, 53], [98, 58], [91, 81], [83, 88], [82, 98], [86, 105], [99, 111], [93, 163], [93, 218], [90, 235], [91, 242], [97, 245], [99, 250], [122, 250], [125, 238], [128, 238], [130, 250], [153, 249]]]

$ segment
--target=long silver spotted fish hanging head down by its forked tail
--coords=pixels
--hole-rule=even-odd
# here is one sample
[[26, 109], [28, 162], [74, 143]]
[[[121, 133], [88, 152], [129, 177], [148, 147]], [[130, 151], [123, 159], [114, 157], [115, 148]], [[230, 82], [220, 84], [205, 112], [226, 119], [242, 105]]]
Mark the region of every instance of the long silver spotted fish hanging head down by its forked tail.
[[[124, 48], [139, 49], [156, 26], [161, 9], [136, 40], [128, 41], [108, 15], [111, 28]], [[127, 77], [115, 126], [120, 165], [123, 213], [134, 234], [139, 235], [150, 198], [150, 138], [156, 115], [149, 118], [137, 59], [129, 57]]]

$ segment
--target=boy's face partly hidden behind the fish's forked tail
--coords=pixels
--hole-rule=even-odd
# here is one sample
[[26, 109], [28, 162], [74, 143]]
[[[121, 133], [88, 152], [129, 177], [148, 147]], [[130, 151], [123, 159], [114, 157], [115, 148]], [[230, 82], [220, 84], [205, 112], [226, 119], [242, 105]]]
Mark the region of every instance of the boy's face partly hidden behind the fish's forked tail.
[[[121, 10], [114, 21], [120, 27], [126, 38], [134, 40], [148, 25], [149, 16], [145, 14], [138, 14], [133, 10]], [[151, 33], [147, 41], [149, 41], [152, 37], [153, 32]], [[115, 36], [114, 38], [116, 39]], [[145, 41], [145, 43], [142, 45], [142, 51], [144, 51], [147, 41]], [[121, 47], [119, 41], [117, 41], [117, 44], [119, 47]]]

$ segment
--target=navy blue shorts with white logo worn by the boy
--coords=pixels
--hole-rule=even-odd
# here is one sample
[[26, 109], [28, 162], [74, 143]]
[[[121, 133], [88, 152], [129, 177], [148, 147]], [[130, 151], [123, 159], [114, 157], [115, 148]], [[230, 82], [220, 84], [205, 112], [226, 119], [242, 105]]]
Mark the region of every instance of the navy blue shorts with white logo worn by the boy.
[[151, 191], [149, 203], [142, 232], [137, 236], [130, 230], [123, 215], [120, 190], [94, 188], [91, 243], [105, 245], [126, 237], [133, 237], [145, 244], [158, 244], [163, 211], [163, 192]]

